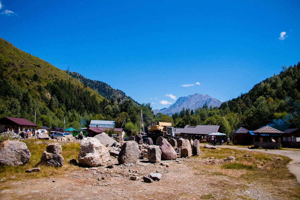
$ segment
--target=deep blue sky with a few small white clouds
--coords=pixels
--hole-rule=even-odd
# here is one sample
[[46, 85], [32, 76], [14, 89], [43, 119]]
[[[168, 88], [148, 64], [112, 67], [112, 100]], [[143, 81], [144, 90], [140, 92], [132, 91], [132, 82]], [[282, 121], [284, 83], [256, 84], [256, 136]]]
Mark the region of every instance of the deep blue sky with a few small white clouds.
[[0, 2], [0, 37], [153, 109], [226, 101], [300, 61], [298, 0]]

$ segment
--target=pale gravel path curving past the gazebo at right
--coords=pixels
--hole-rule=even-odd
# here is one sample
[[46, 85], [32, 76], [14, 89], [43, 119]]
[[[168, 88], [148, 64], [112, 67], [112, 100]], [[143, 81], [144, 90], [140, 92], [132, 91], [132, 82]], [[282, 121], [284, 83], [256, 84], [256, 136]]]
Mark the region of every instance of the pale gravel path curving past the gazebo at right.
[[[200, 145], [204, 146], [204, 144], [200, 144]], [[217, 148], [242, 149], [247, 151], [262, 152], [266, 154], [277, 154], [277, 155], [287, 156], [292, 159], [292, 161], [289, 163], [287, 167], [289, 168], [289, 171], [292, 172], [297, 177], [297, 183], [298, 185], [300, 185], [300, 150], [248, 149], [248, 148], [233, 146], [233, 145], [217, 145]]]

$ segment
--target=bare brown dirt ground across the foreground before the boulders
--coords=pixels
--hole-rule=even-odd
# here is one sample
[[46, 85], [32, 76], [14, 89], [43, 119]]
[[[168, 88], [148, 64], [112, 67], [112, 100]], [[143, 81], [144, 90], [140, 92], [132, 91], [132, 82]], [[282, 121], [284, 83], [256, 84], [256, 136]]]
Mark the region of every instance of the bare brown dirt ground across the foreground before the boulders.
[[[0, 199], [299, 199], [299, 187], [294, 178], [264, 176], [259, 179], [256, 173], [274, 173], [281, 161], [272, 157], [271, 161], [255, 172], [245, 169], [222, 169], [221, 165], [230, 161], [208, 159], [211, 150], [202, 150], [202, 156], [178, 158], [178, 161], [163, 161], [170, 167], [159, 163], [139, 160], [135, 165], [115, 165], [113, 169], [105, 166], [94, 169], [79, 168], [65, 171], [63, 175], [50, 178], [29, 178], [0, 183]], [[221, 149], [218, 151], [225, 151]], [[255, 156], [238, 148], [244, 154]], [[264, 153], [269, 151], [263, 150]], [[276, 150], [276, 154], [277, 153]], [[230, 155], [229, 155], [230, 156]], [[117, 163], [116, 158], [113, 159]], [[280, 169], [285, 166], [278, 166]], [[278, 168], [278, 169], [279, 169]], [[288, 170], [286, 170], [288, 173]], [[143, 180], [129, 180], [129, 173], [138, 176], [151, 172], [161, 173], [162, 179], [153, 183]], [[40, 172], [39, 172], [40, 173]], [[104, 180], [98, 181], [98, 177]], [[55, 182], [54, 182], [55, 181]], [[297, 191], [298, 192], [297, 192]], [[296, 191], [296, 192], [295, 192]]]

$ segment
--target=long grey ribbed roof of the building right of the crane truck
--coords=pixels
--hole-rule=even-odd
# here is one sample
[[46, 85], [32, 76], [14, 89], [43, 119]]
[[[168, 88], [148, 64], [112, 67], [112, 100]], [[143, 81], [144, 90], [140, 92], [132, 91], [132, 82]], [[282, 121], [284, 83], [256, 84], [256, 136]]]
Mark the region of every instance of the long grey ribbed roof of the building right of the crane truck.
[[188, 126], [186, 125], [181, 133], [185, 134], [196, 134], [196, 135], [208, 135], [211, 133], [218, 132], [220, 126], [219, 125], [197, 125]]

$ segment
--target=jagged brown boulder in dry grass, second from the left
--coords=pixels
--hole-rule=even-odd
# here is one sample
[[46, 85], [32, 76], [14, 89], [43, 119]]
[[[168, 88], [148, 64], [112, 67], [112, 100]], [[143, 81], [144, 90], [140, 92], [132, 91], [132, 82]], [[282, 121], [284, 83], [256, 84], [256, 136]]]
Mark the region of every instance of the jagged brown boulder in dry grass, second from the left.
[[51, 143], [47, 146], [46, 151], [43, 152], [40, 163], [48, 166], [61, 167], [64, 164], [64, 157], [62, 157], [61, 153], [61, 145]]

